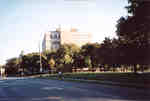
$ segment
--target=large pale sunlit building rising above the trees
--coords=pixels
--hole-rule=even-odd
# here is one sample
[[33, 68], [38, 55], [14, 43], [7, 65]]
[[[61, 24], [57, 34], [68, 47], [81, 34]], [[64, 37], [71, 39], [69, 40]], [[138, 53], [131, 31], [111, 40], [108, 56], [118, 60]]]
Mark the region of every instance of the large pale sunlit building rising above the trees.
[[61, 44], [76, 44], [82, 46], [90, 43], [92, 39], [91, 33], [78, 32], [77, 29], [49, 31], [44, 34], [42, 43], [42, 51], [57, 50]]

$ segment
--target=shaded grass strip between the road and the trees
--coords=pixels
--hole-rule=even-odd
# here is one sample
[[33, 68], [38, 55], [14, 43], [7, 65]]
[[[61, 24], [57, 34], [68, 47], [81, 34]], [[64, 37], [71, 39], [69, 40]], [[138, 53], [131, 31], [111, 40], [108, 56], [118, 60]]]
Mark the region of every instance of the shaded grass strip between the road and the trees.
[[[126, 85], [131, 87], [149, 87], [150, 73], [134, 74], [106, 72], [106, 73], [64, 73], [64, 80], [75, 82], [100, 83], [110, 85]], [[40, 78], [58, 79], [57, 74], [41, 75]]]

